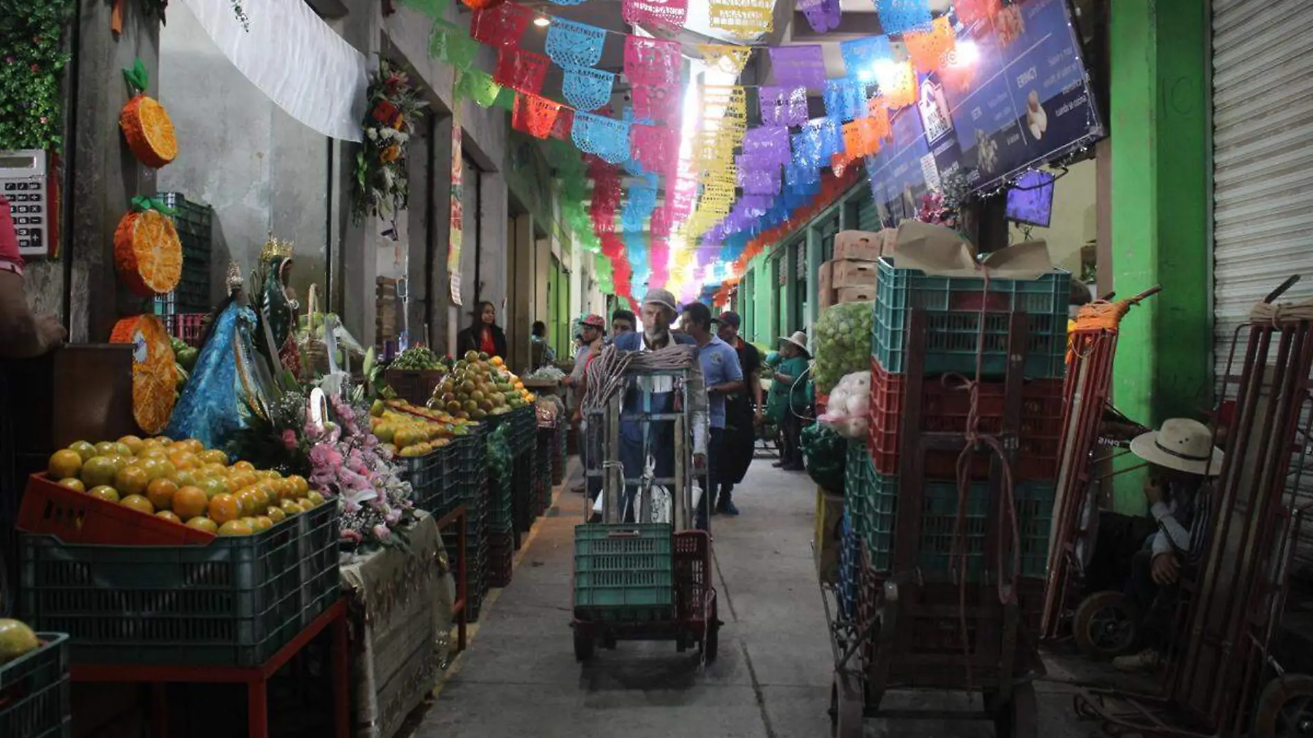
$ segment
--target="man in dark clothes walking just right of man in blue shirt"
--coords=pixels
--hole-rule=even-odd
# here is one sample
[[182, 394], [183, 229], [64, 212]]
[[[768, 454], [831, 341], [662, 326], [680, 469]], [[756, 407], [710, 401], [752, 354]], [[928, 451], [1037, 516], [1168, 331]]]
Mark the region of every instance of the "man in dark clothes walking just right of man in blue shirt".
[[[756, 446], [755, 425], [762, 420], [762, 353], [739, 336], [739, 314], [726, 310], [716, 316], [716, 335], [738, 355], [743, 372], [743, 389], [725, 397], [725, 437], [717, 446], [716, 461], [720, 488], [712, 513], [738, 515], [734, 506], [734, 485], [743, 481], [752, 464]], [[705, 370], [705, 368], [704, 368]]]

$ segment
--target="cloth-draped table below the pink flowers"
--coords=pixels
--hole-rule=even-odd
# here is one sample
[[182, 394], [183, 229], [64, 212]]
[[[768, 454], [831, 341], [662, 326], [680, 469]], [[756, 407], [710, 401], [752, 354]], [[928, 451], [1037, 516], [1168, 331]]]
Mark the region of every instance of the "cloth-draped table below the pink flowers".
[[[448, 517], [457, 515], [463, 508]], [[408, 531], [394, 534], [404, 536], [407, 548], [352, 557], [341, 567], [351, 603], [357, 738], [395, 734], [433, 689], [449, 655], [453, 603], [439, 521], [421, 512]]]

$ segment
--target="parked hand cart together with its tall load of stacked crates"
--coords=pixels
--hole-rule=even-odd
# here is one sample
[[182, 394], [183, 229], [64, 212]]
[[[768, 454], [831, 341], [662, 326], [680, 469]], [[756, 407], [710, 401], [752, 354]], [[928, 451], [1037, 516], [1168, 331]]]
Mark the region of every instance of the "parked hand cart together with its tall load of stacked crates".
[[924, 717], [884, 706], [889, 691], [948, 689], [979, 695], [957, 717], [1033, 738], [1070, 276], [878, 272], [869, 436], [822, 586], [834, 733]]

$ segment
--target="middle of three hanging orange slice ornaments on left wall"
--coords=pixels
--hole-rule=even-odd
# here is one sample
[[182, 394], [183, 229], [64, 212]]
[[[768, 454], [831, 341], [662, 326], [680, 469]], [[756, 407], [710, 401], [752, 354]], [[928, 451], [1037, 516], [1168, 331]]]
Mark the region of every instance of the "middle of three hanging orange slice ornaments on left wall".
[[118, 278], [138, 297], [165, 294], [183, 276], [183, 242], [164, 206], [133, 198], [134, 210], [114, 228], [114, 265]]

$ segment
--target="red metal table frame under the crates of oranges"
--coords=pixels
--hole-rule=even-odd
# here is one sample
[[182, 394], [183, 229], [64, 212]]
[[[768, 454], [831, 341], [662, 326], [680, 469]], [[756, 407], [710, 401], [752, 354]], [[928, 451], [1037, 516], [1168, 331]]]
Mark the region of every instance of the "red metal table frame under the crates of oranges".
[[168, 735], [168, 700], [164, 685], [168, 683], [190, 684], [246, 684], [247, 685], [247, 735], [249, 738], [269, 737], [269, 679], [277, 674], [291, 657], [301, 653], [319, 633], [332, 626], [332, 693], [334, 693], [334, 735], [348, 738], [349, 722], [349, 678], [347, 671], [347, 600], [334, 603], [293, 638], [278, 649], [273, 658], [259, 666], [152, 666], [152, 664], [74, 664], [70, 678], [74, 682], [118, 682], [151, 684], [152, 689], [152, 735]]

